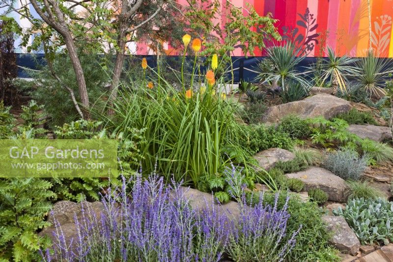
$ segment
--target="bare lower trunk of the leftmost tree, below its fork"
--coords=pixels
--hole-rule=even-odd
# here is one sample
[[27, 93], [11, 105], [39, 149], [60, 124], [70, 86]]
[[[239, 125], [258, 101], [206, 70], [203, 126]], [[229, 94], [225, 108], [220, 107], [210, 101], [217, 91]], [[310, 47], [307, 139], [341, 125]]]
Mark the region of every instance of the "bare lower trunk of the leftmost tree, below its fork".
[[81, 61], [78, 58], [77, 50], [70, 33], [63, 35], [65, 45], [67, 46], [68, 55], [70, 56], [72, 67], [75, 71], [75, 76], [78, 83], [79, 95], [81, 96], [82, 111], [84, 119], [90, 119], [89, 112], [89, 97], [87, 94], [86, 81], [84, 80], [84, 73]]

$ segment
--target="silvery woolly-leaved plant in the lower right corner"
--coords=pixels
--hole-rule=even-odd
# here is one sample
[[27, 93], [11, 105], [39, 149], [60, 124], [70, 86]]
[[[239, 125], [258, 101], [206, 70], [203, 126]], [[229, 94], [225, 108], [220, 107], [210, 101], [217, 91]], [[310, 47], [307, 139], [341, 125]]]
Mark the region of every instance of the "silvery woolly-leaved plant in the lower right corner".
[[335, 215], [345, 218], [362, 244], [389, 244], [393, 242], [393, 202], [383, 199], [352, 199], [345, 210], [338, 207]]

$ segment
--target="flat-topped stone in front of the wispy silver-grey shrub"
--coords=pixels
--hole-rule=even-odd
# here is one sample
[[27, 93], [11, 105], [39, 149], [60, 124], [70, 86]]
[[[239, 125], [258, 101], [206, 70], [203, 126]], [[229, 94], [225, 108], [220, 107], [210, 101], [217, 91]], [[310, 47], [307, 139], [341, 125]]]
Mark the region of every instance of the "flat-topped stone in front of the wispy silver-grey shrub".
[[305, 191], [311, 188], [320, 188], [328, 194], [328, 200], [345, 202], [347, 200], [348, 186], [345, 180], [329, 170], [320, 167], [309, 167], [304, 171], [286, 174], [288, 178], [299, 178], [304, 182]]

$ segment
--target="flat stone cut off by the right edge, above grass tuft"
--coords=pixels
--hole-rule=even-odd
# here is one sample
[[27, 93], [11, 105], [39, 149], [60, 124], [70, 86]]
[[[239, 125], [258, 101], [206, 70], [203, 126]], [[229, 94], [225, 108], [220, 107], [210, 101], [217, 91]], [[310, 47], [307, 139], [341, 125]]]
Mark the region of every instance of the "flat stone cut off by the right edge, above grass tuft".
[[391, 140], [390, 128], [379, 125], [349, 125], [348, 131], [360, 138], [368, 138], [377, 142]]

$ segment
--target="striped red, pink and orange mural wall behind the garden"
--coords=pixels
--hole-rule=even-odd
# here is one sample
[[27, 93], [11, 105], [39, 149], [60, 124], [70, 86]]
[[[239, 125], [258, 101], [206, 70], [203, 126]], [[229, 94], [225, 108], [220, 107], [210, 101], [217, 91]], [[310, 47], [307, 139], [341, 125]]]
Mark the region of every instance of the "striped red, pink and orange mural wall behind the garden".
[[[27, 0], [21, 0], [21, 2], [25, 1]], [[225, 3], [226, 0], [222, 1]], [[178, 0], [178, 2], [186, 4], [186, 0]], [[231, 2], [245, 8], [250, 4], [259, 15], [272, 13], [273, 17], [279, 20], [276, 26], [281, 35], [303, 44], [309, 50], [309, 57], [323, 54], [322, 46], [334, 48], [339, 55], [363, 56], [370, 42], [369, 2], [372, 47], [378, 51], [380, 57], [393, 58], [393, 0], [231, 0]], [[32, 13], [35, 11], [32, 10]], [[28, 21], [19, 19], [18, 15], [16, 18], [23, 26], [28, 27]], [[217, 22], [224, 26], [225, 21]], [[172, 50], [168, 43], [163, 45], [167, 54], [176, 55], [176, 51]], [[130, 43], [129, 48], [137, 55], [154, 54], [149, 49], [149, 43]], [[23, 52], [23, 50], [19, 51]], [[233, 52], [233, 55], [244, 54], [238, 49]], [[261, 56], [263, 52], [258, 51], [254, 55]]]

